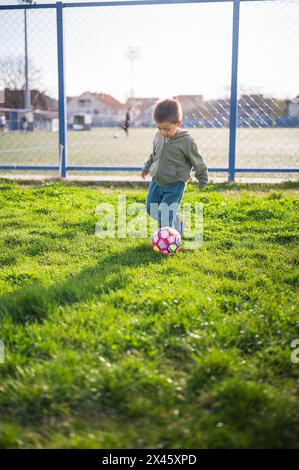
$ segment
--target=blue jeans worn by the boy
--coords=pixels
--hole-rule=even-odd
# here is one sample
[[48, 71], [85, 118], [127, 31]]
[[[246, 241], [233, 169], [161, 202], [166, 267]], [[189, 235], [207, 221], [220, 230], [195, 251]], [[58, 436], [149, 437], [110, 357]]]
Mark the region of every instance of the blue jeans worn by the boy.
[[146, 197], [147, 213], [158, 220], [159, 227], [174, 227], [179, 232], [181, 217], [179, 208], [184, 195], [186, 183], [177, 183], [160, 186], [153, 178], [149, 184]]

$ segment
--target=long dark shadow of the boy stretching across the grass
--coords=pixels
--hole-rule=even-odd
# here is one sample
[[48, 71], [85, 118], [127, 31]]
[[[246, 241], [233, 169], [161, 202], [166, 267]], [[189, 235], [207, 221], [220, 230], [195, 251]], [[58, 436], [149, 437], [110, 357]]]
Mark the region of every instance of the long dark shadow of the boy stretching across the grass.
[[161, 263], [145, 244], [107, 255], [97, 265], [85, 269], [65, 281], [45, 287], [32, 283], [8, 295], [0, 297], [0, 321], [10, 318], [13, 323], [42, 322], [51, 310], [60, 305], [71, 305], [90, 297], [102, 295], [125, 287], [131, 280], [129, 267]]

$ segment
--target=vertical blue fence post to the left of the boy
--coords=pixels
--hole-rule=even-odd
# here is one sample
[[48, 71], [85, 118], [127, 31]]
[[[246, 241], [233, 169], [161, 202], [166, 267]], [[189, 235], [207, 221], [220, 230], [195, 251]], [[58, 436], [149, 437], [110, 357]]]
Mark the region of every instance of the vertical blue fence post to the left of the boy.
[[64, 89], [63, 4], [56, 3], [57, 59], [58, 59], [58, 107], [59, 107], [59, 166], [60, 176], [67, 175], [67, 119]]

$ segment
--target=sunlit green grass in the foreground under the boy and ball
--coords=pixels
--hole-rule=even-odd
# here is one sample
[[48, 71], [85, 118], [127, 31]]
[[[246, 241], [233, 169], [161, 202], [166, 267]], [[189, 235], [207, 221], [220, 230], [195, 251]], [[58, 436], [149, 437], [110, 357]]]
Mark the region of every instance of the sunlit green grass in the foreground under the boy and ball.
[[124, 193], [0, 182], [0, 447], [298, 447], [299, 183], [188, 184], [172, 258], [95, 236]]

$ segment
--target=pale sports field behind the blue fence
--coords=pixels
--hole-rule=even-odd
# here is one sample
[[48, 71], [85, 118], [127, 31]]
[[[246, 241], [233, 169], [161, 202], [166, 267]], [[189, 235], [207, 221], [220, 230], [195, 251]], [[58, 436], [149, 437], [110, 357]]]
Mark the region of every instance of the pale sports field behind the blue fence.
[[[151, 153], [155, 132], [155, 129], [131, 129], [127, 138], [121, 129], [70, 131], [69, 164], [142, 166]], [[228, 129], [190, 129], [190, 132], [209, 168], [227, 168]], [[119, 138], [115, 139], [114, 134]], [[58, 134], [8, 132], [0, 137], [0, 162], [5, 165], [58, 165]], [[299, 129], [238, 129], [236, 166], [298, 168]], [[275, 175], [281, 176], [271, 174]]]

